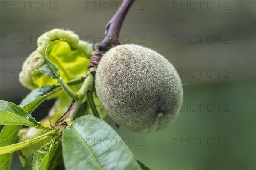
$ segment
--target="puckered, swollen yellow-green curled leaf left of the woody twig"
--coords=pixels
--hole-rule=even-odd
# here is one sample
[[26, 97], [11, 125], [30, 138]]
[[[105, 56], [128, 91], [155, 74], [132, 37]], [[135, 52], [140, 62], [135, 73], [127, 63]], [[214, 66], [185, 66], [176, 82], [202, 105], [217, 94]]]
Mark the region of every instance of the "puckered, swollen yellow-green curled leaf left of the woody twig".
[[[44, 67], [47, 65], [44, 64], [47, 46], [50, 47], [47, 57], [58, 68], [65, 82], [86, 73], [86, 65], [89, 64], [93, 54], [92, 45], [79, 40], [78, 35], [73, 31], [53, 29], [38, 38], [38, 48], [23, 63], [22, 75], [19, 78], [23, 86], [35, 89], [44, 85], [57, 84], [55, 79], [38, 71], [42, 67], [46, 69]], [[54, 73], [50, 71], [49, 74]]]

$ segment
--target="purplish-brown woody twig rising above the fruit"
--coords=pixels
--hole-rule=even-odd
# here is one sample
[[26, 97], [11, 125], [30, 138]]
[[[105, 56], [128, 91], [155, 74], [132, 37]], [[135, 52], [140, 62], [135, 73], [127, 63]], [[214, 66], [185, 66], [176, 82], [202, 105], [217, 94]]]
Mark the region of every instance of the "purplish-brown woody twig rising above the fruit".
[[105, 37], [102, 42], [95, 44], [95, 53], [91, 57], [90, 64], [88, 68], [96, 67], [99, 64], [99, 61], [103, 54], [105, 54], [112, 46], [120, 45], [119, 42], [119, 33], [122, 27], [122, 23], [125, 20], [125, 16], [131, 8], [134, 0], [123, 0], [120, 7], [116, 11], [116, 14], [113, 15], [111, 20], [105, 26]]

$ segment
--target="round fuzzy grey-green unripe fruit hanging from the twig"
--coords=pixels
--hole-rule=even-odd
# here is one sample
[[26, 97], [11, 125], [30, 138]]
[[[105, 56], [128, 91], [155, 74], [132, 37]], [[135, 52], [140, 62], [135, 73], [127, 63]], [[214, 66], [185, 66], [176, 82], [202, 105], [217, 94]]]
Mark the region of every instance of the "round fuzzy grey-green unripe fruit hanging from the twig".
[[171, 125], [180, 112], [183, 89], [173, 65], [139, 45], [119, 45], [99, 62], [96, 94], [108, 115], [137, 133]]

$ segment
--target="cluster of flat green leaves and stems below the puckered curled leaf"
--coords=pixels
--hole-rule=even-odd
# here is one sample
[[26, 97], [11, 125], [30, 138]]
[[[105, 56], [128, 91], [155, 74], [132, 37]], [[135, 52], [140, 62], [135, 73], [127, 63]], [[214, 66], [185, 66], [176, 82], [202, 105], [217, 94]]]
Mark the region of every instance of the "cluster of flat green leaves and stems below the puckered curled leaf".
[[[36, 88], [19, 106], [0, 101], [0, 125], [5, 125], [0, 133], [0, 169], [9, 170], [12, 153], [18, 151], [23, 163], [22, 170], [148, 170], [134, 159], [118, 133], [105, 122], [108, 115], [97, 107], [99, 101], [92, 88], [94, 78], [90, 71], [67, 83], [61, 77], [58, 67], [50, 59], [54, 46], [61, 42], [67, 42], [72, 49], [72, 43], [66, 39], [50, 43], [45, 52], [46, 62], [38, 69], [42, 75], [55, 79], [57, 84]], [[74, 91], [71, 87], [77, 85], [80, 88]], [[63, 116], [55, 122], [47, 120], [47, 125], [35, 120], [31, 113], [46, 99], [61, 91], [72, 100]], [[26, 136], [21, 141], [19, 137], [23, 126], [41, 130], [42, 133]], [[106, 140], [111, 142], [106, 144]], [[35, 146], [34, 150], [31, 146]], [[27, 150], [31, 154], [25, 156]]]

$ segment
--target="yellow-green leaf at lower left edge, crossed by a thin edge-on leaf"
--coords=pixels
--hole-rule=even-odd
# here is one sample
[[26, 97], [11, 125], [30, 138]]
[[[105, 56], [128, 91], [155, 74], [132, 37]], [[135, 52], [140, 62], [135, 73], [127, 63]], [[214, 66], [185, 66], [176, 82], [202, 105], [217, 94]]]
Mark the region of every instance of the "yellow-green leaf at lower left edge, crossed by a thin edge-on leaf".
[[[0, 133], [0, 147], [14, 144], [20, 125], [6, 125]], [[9, 170], [12, 162], [12, 154], [6, 153], [0, 155], [0, 170]]]

